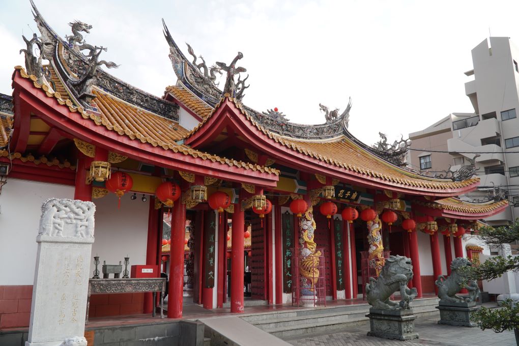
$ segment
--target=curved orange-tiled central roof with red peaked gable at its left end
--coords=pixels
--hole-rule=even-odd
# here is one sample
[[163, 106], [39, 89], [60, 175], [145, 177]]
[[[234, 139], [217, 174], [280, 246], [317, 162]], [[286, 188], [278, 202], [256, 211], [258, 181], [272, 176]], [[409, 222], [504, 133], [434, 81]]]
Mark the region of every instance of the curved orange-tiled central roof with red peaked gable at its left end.
[[[224, 112], [216, 112], [224, 104], [232, 104], [235, 114], [241, 115], [230, 117]], [[216, 115], [217, 114], [217, 115]], [[201, 145], [201, 141], [209, 139], [217, 134], [220, 129], [216, 124], [223, 122], [221, 119], [213, 119], [214, 117], [228, 117], [230, 122], [234, 123], [237, 129], [241, 129], [241, 123], [248, 123], [259, 130], [262, 141], [270, 142], [279, 148], [279, 145], [288, 148], [293, 154], [301, 154], [314, 162], [327, 163], [333, 165], [335, 170], [340, 172], [350, 172], [356, 176], [363, 176], [370, 182], [384, 182], [394, 187], [406, 187], [416, 192], [441, 192], [450, 196], [458, 195], [465, 190], [471, 190], [479, 184], [479, 178], [471, 178], [461, 182], [454, 182], [451, 179], [438, 179], [422, 176], [417, 173], [409, 172], [397, 167], [366, 150], [357, 143], [354, 143], [349, 137], [340, 134], [332, 139], [323, 140], [301, 140], [288, 136], [281, 136], [271, 132], [261, 123], [257, 122], [249, 111], [237, 102], [236, 99], [226, 96], [215, 106], [215, 111], [205, 118], [196, 128], [186, 136], [186, 143], [195, 147]], [[214, 132], [213, 134], [210, 134]], [[219, 132], [218, 132], [219, 133]], [[256, 132], [257, 133], [257, 132]], [[250, 133], [247, 135], [251, 140]], [[199, 139], [200, 138], [200, 139]], [[206, 140], [208, 141], [208, 140]], [[206, 143], [207, 144], [207, 143]], [[276, 155], [271, 150], [265, 148], [269, 155]], [[321, 167], [321, 166], [320, 166]], [[321, 172], [316, 172], [321, 173]], [[322, 173], [324, 174], [324, 173]], [[409, 192], [409, 191], [408, 191]], [[443, 195], [445, 196], [445, 195]]]

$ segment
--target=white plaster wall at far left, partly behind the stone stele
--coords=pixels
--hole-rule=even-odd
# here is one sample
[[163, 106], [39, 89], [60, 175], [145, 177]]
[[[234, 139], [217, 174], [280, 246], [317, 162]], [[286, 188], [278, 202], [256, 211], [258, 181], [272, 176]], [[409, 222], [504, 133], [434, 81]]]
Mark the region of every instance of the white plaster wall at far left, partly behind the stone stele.
[[9, 178], [0, 195], [0, 285], [32, 285], [42, 203], [74, 198], [74, 187]]

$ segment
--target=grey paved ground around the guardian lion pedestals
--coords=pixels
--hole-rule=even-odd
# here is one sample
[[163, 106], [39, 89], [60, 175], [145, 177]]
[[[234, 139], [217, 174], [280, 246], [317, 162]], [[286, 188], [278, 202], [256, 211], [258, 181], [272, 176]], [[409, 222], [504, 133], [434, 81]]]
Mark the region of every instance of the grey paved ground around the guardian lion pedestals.
[[[297, 346], [515, 346], [513, 331], [494, 333], [480, 328], [454, 327], [436, 323], [438, 317], [421, 317], [415, 321], [419, 339], [386, 340], [366, 336], [369, 324], [319, 334], [300, 335], [286, 341]], [[347, 330], [347, 331], [346, 331]]]

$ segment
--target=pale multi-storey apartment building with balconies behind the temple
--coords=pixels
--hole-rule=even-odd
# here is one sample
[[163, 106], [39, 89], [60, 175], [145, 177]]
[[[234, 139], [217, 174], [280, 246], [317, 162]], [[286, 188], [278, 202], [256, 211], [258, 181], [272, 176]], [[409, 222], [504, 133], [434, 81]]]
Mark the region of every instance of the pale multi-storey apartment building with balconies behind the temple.
[[[474, 113], [452, 113], [409, 134], [413, 170], [435, 176], [470, 164], [475, 154], [481, 187], [461, 198], [487, 201], [499, 192], [509, 209], [486, 219], [502, 225], [519, 217], [519, 49], [509, 37], [490, 37], [472, 49], [465, 83]], [[424, 150], [416, 150], [424, 149]], [[438, 152], [440, 151], [440, 152]], [[443, 153], [442, 153], [443, 151]]]

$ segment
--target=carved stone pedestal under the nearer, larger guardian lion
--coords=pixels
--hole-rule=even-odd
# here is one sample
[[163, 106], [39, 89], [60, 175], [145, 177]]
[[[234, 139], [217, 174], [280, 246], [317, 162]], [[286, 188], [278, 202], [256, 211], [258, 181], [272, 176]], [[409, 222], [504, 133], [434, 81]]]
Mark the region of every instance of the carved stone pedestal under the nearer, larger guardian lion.
[[402, 341], [418, 339], [414, 323], [416, 315], [411, 309], [382, 310], [371, 308], [366, 317], [370, 318], [368, 336]]

